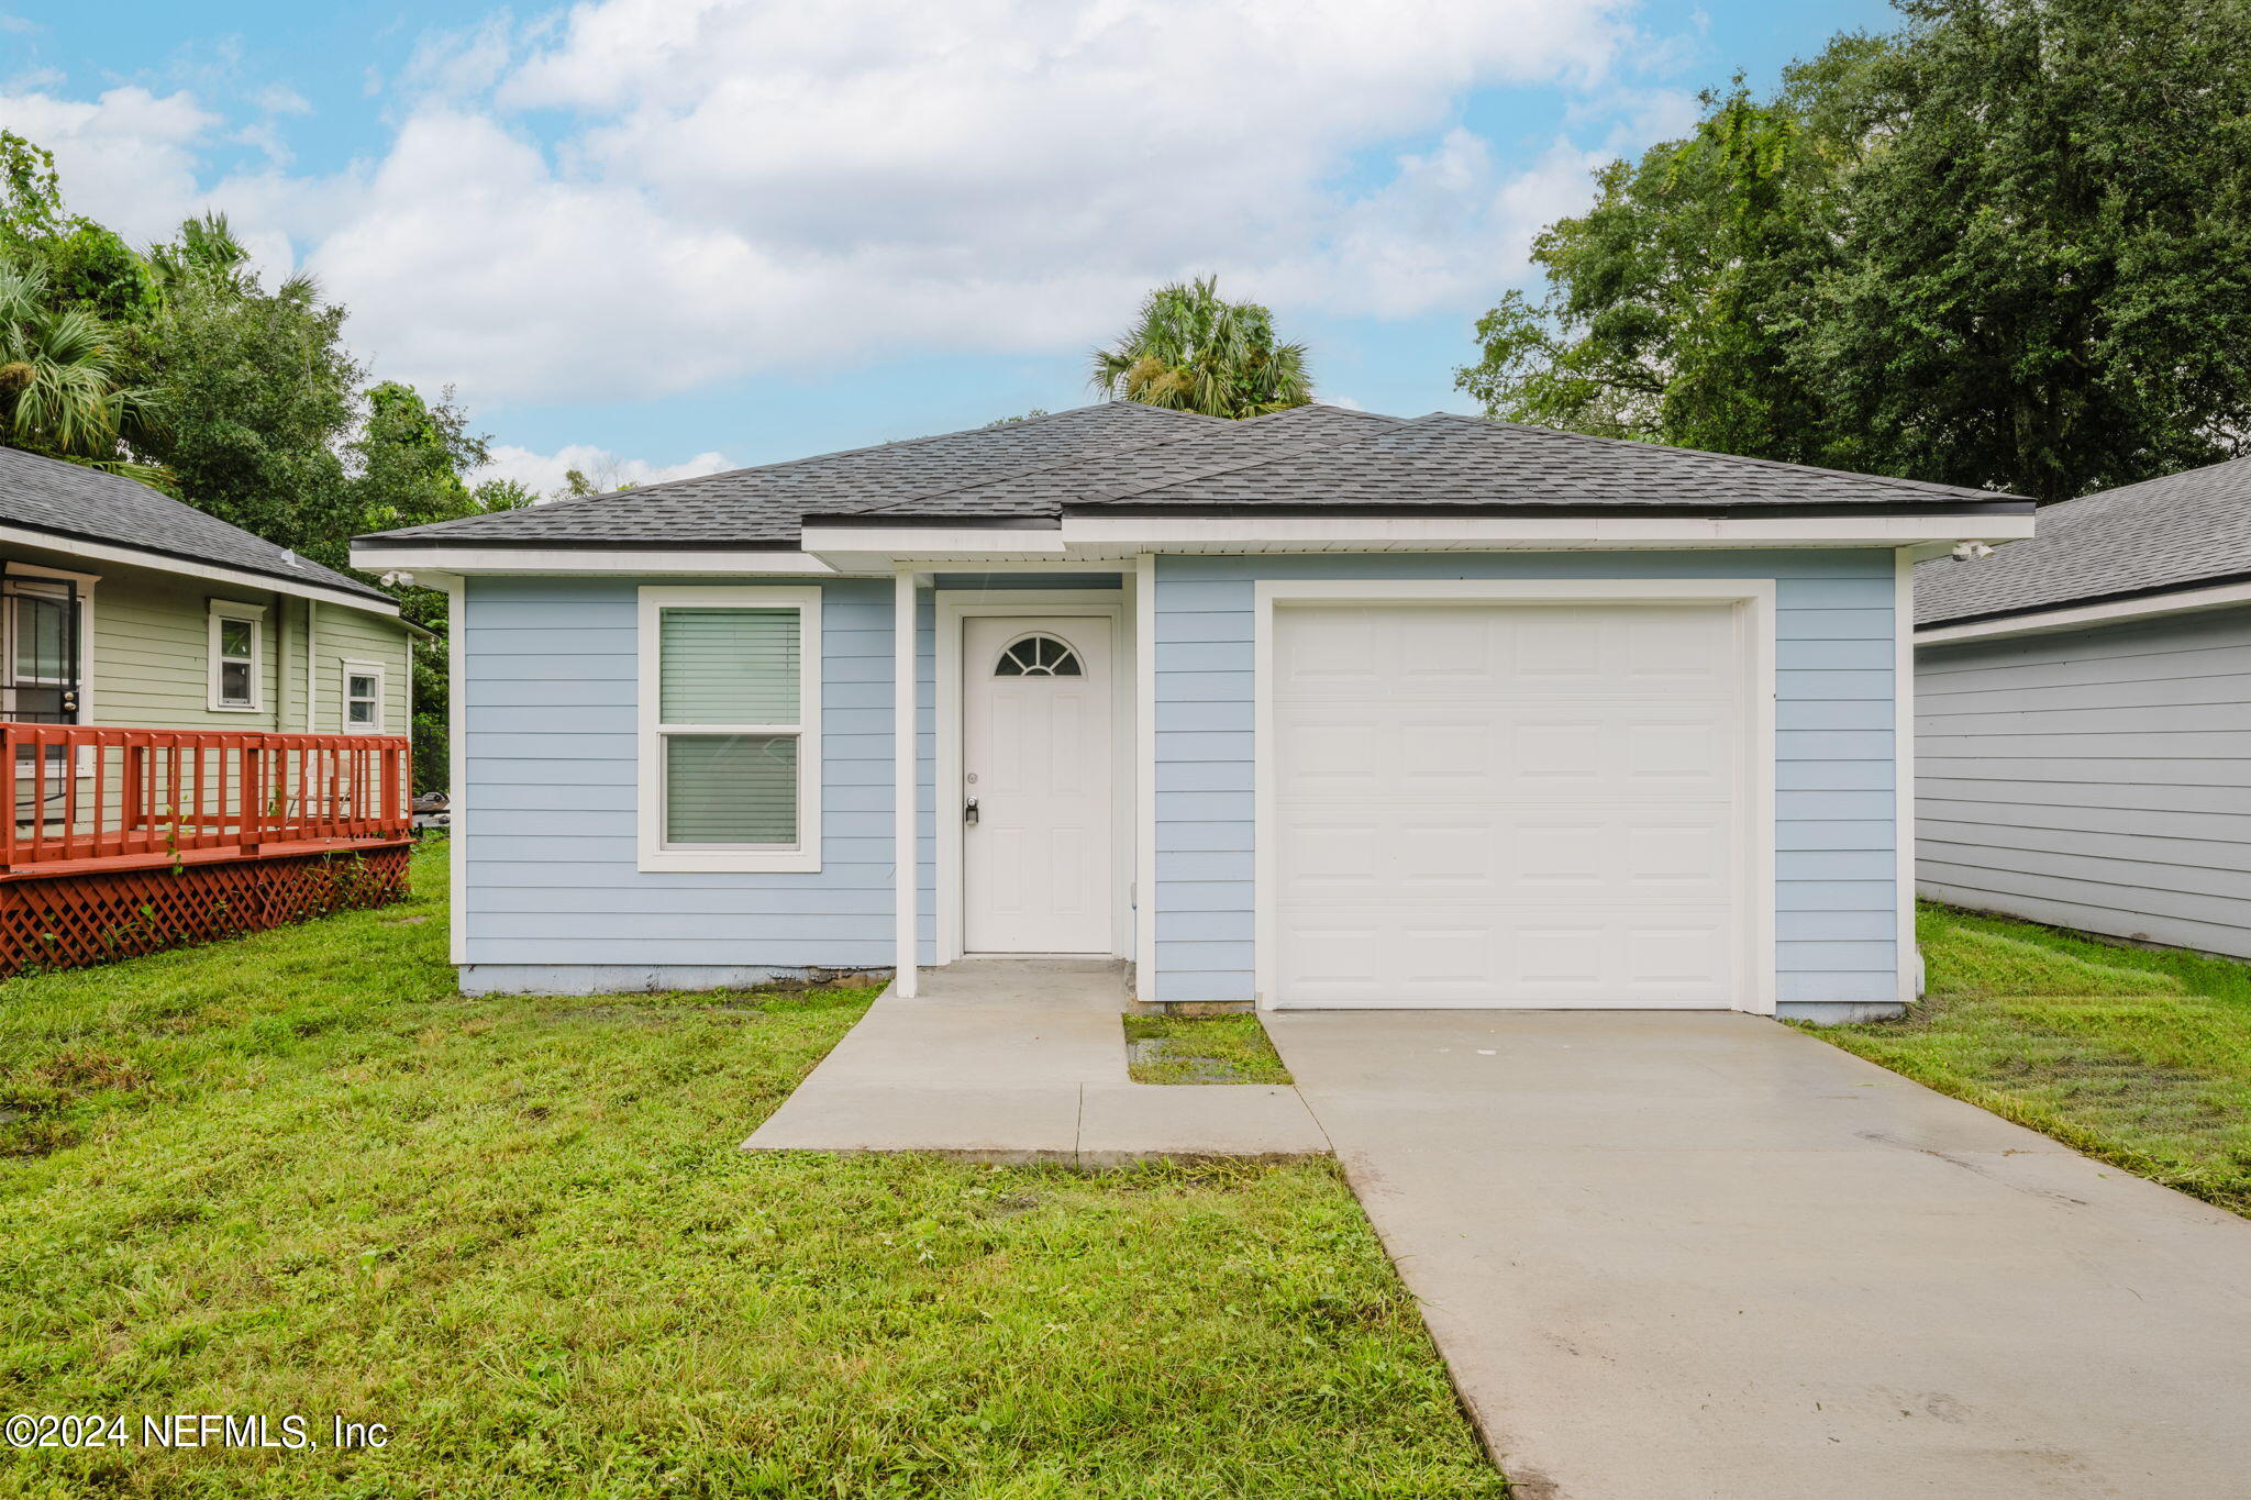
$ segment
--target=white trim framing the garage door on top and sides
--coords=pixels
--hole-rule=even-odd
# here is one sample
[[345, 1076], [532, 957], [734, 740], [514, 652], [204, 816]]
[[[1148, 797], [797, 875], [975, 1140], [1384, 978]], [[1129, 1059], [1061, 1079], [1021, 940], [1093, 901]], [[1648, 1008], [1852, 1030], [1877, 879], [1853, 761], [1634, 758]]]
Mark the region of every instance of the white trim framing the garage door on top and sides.
[[1742, 873], [1738, 886], [1740, 931], [1736, 974], [1742, 1001], [1736, 1010], [1774, 1014], [1774, 596], [1772, 578], [1351, 578], [1351, 580], [1261, 580], [1252, 616], [1254, 657], [1254, 749], [1252, 749], [1252, 929], [1254, 996], [1274, 1007], [1279, 954], [1279, 906], [1274, 893], [1274, 612], [1288, 605], [1384, 603], [1384, 605], [1731, 605], [1740, 621], [1745, 690], [1742, 758]]

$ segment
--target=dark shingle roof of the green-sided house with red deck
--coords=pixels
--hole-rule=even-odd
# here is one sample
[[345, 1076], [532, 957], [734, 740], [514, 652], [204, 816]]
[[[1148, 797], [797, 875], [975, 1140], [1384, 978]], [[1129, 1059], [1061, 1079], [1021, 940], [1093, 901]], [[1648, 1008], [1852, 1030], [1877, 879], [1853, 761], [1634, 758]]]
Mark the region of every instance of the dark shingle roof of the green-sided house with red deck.
[[383, 589], [297, 558], [146, 484], [16, 448], [0, 448], [0, 524], [133, 546], [185, 562], [214, 562], [392, 603]]

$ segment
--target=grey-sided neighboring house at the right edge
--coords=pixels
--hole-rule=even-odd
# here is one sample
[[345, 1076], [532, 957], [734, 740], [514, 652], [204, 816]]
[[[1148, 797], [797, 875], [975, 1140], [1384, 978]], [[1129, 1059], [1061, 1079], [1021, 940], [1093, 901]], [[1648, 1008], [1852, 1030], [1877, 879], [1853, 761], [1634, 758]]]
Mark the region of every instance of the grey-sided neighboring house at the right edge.
[[2251, 958], [2251, 459], [1918, 573], [1920, 882]]

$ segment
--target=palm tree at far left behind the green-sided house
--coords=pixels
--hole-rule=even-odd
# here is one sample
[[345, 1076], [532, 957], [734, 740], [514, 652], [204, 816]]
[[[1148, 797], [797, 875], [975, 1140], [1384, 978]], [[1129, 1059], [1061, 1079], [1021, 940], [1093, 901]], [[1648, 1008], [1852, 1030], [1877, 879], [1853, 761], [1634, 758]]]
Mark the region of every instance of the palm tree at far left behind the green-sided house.
[[133, 479], [162, 470], [119, 459], [119, 439], [153, 412], [149, 391], [119, 380], [108, 324], [56, 308], [41, 265], [0, 263], [0, 443]]

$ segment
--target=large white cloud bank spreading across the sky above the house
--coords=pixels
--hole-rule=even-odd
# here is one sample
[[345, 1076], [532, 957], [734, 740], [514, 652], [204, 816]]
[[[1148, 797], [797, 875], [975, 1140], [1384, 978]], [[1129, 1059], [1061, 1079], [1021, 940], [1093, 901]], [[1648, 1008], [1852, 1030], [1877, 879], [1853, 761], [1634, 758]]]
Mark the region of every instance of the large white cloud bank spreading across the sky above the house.
[[1285, 326], [1483, 306], [1607, 151], [1504, 151], [1459, 101], [1668, 108], [1632, 85], [1632, 9], [581, 0], [425, 38], [385, 153], [340, 173], [293, 173], [286, 90], [263, 97], [234, 139], [266, 164], [209, 193], [214, 121], [187, 94], [45, 106], [81, 110], [54, 142], [81, 207], [149, 234], [223, 205], [261, 265], [322, 277], [385, 376], [470, 405], [644, 400], [932, 349], [1071, 353], [1209, 270]]

